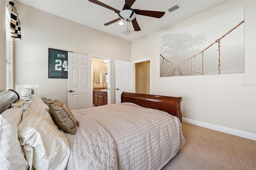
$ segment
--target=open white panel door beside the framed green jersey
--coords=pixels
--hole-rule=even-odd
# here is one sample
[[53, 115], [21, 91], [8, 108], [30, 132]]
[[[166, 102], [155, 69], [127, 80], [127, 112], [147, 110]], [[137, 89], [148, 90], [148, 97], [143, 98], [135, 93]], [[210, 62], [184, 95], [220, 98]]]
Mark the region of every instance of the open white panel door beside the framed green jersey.
[[92, 59], [87, 55], [68, 52], [68, 107], [92, 107]]

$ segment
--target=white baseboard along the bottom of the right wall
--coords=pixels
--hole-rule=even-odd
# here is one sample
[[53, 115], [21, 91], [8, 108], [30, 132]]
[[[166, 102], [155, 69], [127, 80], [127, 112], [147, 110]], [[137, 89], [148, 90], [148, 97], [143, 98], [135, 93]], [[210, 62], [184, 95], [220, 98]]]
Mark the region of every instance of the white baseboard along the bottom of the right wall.
[[212, 125], [212, 124], [209, 124], [209, 123], [194, 121], [192, 119], [187, 119], [187, 118], [182, 118], [182, 122], [189, 123], [189, 124], [192, 124], [192, 125], [197, 125], [197, 126], [200, 126], [200, 127], [210, 128], [212, 130], [217, 130], [217, 131], [225, 132], [225, 133], [228, 133], [228, 134], [234, 134], [236, 136], [240, 136], [240, 137], [243, 137], [243, 138], [256, 140], [256, 134], [243, 132], [243, 131], [235, 130], [235, 129], [232, 129], [232, 128], [221, 127], [221, 126], [218, 126], [218, 125]]

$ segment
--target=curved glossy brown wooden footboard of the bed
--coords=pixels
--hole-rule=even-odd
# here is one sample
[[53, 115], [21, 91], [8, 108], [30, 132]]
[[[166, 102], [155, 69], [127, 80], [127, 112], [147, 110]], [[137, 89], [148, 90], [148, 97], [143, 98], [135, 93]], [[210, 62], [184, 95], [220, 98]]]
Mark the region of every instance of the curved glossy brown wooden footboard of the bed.
[[167, 113], [178, 117], [180, 122], [182, 122], [182, 114], [180, 110], [181, 100], [182, 97], [147, 95], [128, 92], [123, 92], [121, 94], [121, 103], [130, 102], [143, 107], [166, 111]]

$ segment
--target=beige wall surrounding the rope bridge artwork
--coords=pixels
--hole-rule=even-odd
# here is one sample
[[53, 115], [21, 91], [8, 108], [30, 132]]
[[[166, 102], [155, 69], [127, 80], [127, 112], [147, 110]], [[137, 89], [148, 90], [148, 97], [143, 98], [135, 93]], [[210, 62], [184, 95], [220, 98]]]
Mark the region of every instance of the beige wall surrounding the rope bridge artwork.
[[[159, 41], [166, 33], [185, 28], [244, 6], [245, 73], [160, 77]], [[228, 21], [227, 21], [228, 22]], [[256, 1], [228, 1], [132, 42], [132, 61], [151, 58], [151, 93], [182, 97], [184, 120], [249, 133], [256, 139]], [[254, 87], [242, 84], [254, 83]], [[187, 111], [191, 106], [191, 111]], [[222, 128], [222, 129], [223, 129]]]

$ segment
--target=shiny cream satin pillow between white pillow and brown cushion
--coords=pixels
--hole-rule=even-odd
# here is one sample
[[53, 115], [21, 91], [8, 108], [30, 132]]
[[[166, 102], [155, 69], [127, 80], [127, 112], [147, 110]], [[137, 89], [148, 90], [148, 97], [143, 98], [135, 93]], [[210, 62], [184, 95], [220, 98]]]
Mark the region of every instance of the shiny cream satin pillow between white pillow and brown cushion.
[[33, 166], [36, 170], [64, 170], [70, 154], [68, 140], [54, 124], [42, 99], [30, 100], [18, 125], [18, 137], [30, 169]]

